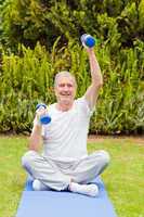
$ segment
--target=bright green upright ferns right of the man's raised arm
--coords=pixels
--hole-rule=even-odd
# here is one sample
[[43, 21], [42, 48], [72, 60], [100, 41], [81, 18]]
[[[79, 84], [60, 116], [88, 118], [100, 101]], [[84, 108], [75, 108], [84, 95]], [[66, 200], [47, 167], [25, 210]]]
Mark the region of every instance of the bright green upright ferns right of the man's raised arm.
[[[107, 61], [102, 53], [104, 88], [100, 95], [97, 115], [92, 123], [94, 132], [142, 133], [144, 130], [144, 43], [136, 41], [133, 49], [121, 50], [117, 62]], [[108, 51], [109, 52], [109, 49]], [[104, 65], [102, 64], [102, 68]]]

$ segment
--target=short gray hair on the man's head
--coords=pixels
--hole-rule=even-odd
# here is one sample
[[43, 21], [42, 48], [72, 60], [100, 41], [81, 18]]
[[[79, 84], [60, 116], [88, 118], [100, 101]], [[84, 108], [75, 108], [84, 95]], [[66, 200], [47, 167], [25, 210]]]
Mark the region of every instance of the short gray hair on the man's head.
[[54, 78], [54, 87], [56, 87], [57, 80], [58, 80], [60, 77], [69, 77], [69, 78], [71, 78], [74, 85], [77, 87], [77, 81], [76, 81], [75, 76], [74, 76], [71, 73], [67, 72], [67, 71], [62, 71], [62, 72], [60, 72], [60, 73], [57, 73], [57, 74], [55, 75], [55, 78]]

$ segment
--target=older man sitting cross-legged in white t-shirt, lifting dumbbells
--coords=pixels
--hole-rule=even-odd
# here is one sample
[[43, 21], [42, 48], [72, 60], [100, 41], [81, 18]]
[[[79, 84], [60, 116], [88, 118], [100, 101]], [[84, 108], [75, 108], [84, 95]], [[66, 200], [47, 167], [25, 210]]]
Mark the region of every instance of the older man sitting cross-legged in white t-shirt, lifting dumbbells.
[[[90, 196], [99, 195], [97, 186], [90, 182], [108, 165], [109, 155], [105, 151], [87, 153], [90, 117], [103, 85], [93, 48], [87, 48], [87, 52], [92, 81], [84, 95], [75, 100], [75, 77], [61, 72], [54, 84], [57, 102], [48, 107], [51, 123], [42, 126], [39, 122], [47, 110], [36, 114], [29, 151], [22, 158], [23, 166], [34, 178], [34, 190], [68, 189]], [[43, 152], [39, 154], [41, 138]]]

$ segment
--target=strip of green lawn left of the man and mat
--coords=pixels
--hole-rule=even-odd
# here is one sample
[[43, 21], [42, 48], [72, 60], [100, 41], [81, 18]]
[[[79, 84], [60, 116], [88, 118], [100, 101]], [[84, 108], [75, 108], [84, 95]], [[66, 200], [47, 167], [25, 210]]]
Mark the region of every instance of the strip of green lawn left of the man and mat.
[[14, 217], [25, 173], [21, 167], [21, 156], [26, 150], [25, 138], [0, 137], [0, 216]]

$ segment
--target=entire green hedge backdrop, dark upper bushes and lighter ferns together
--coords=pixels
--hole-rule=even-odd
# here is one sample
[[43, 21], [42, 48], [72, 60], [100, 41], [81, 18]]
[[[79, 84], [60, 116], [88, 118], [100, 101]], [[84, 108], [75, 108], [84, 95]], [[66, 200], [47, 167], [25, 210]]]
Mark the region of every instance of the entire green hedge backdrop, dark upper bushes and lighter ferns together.
[[75, 74], [84, 93], [83, 33], [99, 38], [104, 76], [91, 132], [144, 131], [144, 0], [3, 0], [0, 9], [0, 131], [30, 130], [36, 104], [55, 100], [58, 71]]

